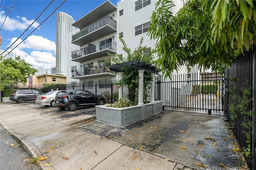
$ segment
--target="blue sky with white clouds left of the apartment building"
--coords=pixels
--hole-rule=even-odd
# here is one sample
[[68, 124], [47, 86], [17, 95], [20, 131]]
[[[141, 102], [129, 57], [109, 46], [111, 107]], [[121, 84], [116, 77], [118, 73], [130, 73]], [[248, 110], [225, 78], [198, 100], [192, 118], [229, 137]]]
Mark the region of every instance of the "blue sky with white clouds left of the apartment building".
[[[64, 0], [54, 0], [47, 10], [36, 20], [23, 36], [18, 37], [34, 22], [42, 11], [50, 4], [51, 0], [15, 0], [12, 10], [8, 10], [13, 0], [0, 0], [0, 26], [2, 45], [1, 49], [6, 50], [15, 40], [17, 42], [9, 48], [18, 45], [37, 26], [39, 26]], [[120, 0], [110, 0], [116, 5]], [[34, 66], [51, 68], [56, 66], [56, 16], [57, 12], [65, 12], [76, 21], [94, 8], [98, 7], [105, 0], [67, 0], [54, 12], [37, 30], [24, 40], [13, 51], [25, 59], [27, 63]], [[7, 16], [7, 17], [6, 17]], [[5, 20], [5, 21], [4, 21]], [[4, 22], [4, 24], [3, 24]]]

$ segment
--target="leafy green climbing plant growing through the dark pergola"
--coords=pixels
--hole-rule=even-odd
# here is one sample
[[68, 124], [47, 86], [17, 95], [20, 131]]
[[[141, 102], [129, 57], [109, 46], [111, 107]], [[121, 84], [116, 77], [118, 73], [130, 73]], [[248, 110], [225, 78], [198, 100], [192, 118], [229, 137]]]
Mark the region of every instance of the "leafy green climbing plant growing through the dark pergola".
[[[122, 49], [126, 52], [127, 56], [123, 57], [122, 55], [114, 55], [113, 63], [125, 63], [128, 61], [140, 60], [143, 61], [145, 65], [154, 65], [154, 51], [148, 50], [146, 46], [142, 46], [143, 37], [140, 40], [140, 44], [137, 48], [132, 50], [127, 47], [126, 43], [122, 38], [119, 38], [123, 44]], [[144, 54], [147, 55], [144, 55]], [[138, 69], [124, 66], [122, 67], [122, 79], [118, 82], [118, 85], [126, 85], [128, 88], [128, 99], [129, 105], [137, 105], [138, 104]], [[150, 81], [152, 80], [151, 73], [144, 72], [144, 103], [147, 102], [148, 97], [148, 89], [150, 88]]]

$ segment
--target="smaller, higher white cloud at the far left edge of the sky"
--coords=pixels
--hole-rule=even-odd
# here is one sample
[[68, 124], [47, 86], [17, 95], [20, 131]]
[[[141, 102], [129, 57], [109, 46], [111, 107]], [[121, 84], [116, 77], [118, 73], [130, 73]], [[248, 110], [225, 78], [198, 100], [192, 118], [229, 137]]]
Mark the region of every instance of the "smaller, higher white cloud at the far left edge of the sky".
[[[5, 21], [4, 21], [5, 20]], [[26, 17], [16, 16], [16, 18], [6, 17], [5, 12], [0, 12], [0, 25], [4, 22], [2, 27], [3, 30], [14, 31], [14, 30], [26, 30], [34, 20], [27, 20]], [[30, 27], [30, 29], [34, 29], [38, 27], [40, 24], [38, 22], [34, 22], [34, 24]]]

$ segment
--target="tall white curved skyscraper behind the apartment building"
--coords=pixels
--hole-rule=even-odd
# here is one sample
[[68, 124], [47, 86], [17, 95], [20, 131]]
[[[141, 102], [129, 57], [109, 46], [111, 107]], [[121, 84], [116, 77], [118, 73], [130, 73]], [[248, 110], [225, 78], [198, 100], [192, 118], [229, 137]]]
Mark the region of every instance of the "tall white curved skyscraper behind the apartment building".
[[72, 26], [74, 22], [72, 16], [64, 12], [58, 12], [56, 29], [56, 75], [67, 75], [67, 35], [76, 29]]

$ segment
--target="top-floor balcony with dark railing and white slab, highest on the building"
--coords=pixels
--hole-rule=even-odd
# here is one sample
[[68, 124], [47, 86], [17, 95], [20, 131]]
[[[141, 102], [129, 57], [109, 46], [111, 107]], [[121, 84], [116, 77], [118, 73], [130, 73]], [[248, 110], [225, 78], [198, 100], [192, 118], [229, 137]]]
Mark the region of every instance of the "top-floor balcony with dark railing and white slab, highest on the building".
[[72, 43], [82, 46], [109, 34], [116, 32], [116, 21], [105, 16], [72, 35]]

